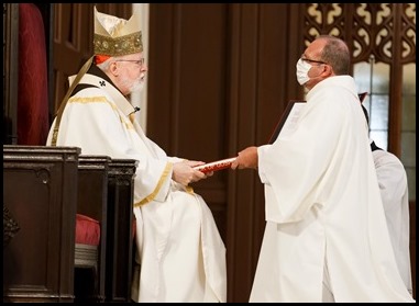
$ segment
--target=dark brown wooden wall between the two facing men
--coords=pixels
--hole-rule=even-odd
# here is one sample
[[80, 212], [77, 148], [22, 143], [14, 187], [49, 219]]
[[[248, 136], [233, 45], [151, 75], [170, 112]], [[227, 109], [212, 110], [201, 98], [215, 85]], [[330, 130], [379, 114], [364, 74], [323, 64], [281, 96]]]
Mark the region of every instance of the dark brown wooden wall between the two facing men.
[[[267, 141], [304, 46], [287, 4], [152, 4], [147, 133], [174, 156], [212, 161]], [[297, 27], [296, 27], [297, 29]], [[287, 46], [287, 47], [285, 47]], [[196, 184], [228, 249], [230, 302], [247, 302], [264, 230], [255, 171]]]

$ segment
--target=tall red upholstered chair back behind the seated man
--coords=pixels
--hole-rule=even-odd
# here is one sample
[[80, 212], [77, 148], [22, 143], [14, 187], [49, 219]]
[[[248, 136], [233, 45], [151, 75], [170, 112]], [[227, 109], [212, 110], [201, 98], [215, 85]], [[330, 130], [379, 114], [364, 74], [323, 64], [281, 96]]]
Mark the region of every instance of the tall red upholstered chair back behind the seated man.
[[19, 4], [18, 145], [45, 145], [48, 80], [45, 29], [34, 3]]

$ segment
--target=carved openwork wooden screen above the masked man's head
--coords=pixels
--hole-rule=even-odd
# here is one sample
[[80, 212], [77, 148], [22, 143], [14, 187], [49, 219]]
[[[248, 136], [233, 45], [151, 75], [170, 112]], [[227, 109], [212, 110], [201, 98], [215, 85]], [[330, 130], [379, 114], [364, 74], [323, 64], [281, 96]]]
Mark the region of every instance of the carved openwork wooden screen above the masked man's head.
[[320, 34], [344, 39], [353, 49], [353, 63], [416, 63], [415, 3], [307, 3], [306, 45]]

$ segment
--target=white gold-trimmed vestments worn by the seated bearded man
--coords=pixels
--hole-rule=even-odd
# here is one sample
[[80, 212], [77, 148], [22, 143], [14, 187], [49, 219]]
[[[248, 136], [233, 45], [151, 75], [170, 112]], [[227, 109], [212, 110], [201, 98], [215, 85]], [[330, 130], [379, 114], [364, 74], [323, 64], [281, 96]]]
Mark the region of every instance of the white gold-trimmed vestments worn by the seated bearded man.
[[225, 247], [203, 200], [172, 180], [172, 162], [178, 159], [167, 157], [130, 121], [133, 106], [110, 82], [85, 75], [80, 83], [95, 87], [68, 100], [57, 146], [139, 160], [133, 209], [141, 268], [134, 274], [132, 299], [225, 302]]

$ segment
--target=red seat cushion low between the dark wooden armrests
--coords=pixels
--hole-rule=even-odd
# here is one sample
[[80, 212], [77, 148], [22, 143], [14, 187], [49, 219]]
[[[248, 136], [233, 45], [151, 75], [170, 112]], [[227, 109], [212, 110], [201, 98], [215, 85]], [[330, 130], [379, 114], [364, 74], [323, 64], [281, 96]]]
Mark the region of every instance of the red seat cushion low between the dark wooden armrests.
[[99, 222], [88, 216], [76, 215], [76, 243], [99, 246]]

